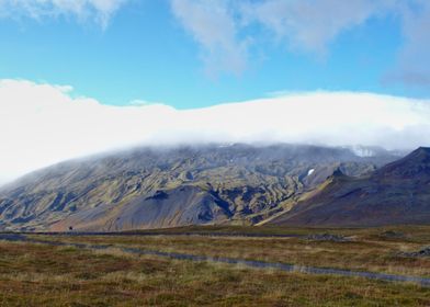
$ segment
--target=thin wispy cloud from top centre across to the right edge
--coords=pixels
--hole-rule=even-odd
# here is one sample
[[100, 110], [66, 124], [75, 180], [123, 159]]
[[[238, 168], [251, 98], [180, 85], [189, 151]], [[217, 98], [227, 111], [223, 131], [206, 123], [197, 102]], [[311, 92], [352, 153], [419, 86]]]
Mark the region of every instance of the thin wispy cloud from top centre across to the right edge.
[[[430, 83], [430, 2], [428, 0], [171, 0], [178, 20], [201, 44], [206, 67], [242, 71], [251, 58], [249, 44], [274, 42], [290, 52], [320, 58], [341, 34], [371, 19], [395, 18], [404, 35], [398, 62], [384, 77], [388, 82], [427, 87]], [[248, 31], [267, 30], [264, 39]], [[242, 37], [239, 39], [238, 37]], [[245, 38], [244, 38], [245, 37]]]

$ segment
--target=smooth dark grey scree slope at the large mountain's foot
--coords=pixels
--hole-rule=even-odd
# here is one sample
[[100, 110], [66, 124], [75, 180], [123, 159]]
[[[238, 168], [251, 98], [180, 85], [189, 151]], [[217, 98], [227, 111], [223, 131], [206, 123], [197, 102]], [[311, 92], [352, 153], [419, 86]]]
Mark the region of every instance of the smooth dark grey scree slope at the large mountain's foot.
[[64, 230], [78, 225], [87, 230], [167, 228], [220, 221], [231, 216], [228, 206], [207, 191], [185, 185], [168, 192], [137, 196], [122, 209], [110, 206], [82, 209], [53, 225]]

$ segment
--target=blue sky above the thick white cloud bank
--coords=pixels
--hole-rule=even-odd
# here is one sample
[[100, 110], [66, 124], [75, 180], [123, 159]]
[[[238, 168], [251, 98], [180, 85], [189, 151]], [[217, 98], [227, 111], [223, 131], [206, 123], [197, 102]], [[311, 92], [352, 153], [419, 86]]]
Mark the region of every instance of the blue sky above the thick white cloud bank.
[[[359, 9], [342, 11], [350, 14], [349, 19], [347, 15], [344, 22], [327, 29], [328, 38], [322, 43], [309, 43], [306, 37], [327, 34], [318, 32], [318, 23], [315, 29], [305, 25], [316, 16], [304, 14], [293, 21], [276, 16], [285, 21], [282, 32], [268, 25], [273, 18], [270, 11], [269, 16], [253, 13], [250, 18], [248, 13], [251, 9], [263, 12], [262, 5], [269, 4], [278, 4], [281, 12], [294, 10], [293, 4], [285, 4], [299, 5], [299, 1], [242, 1], [249, 5], [245, 9], [240, 2], [227, 0], [116, 1], [103, 21], [103, 7], [92, 7], [92, 1], [83, 1], [79, 12], [37, 1], [16, 2], [8, 5], [0, 1], [0, 79], [67, 84], [75, 89], [73, 95], [91, 96], [105, 104], [142, 100], [194, 109], [318, 90], [430, 95], [429, 83], [425, 82], [430, 59], [423, 52], [418, 55], [425, 56], [419, 59], [423, 71], [419, 76], [416, 71], [409, 73], [418, 76], [418, 81], [398, 78], [405, 69], [417, 66], [417, 56], [403, 56], [405, 49], [418, 48], [417, 39], [410, 37], [420, 30], [430, 32], [422, 29], [427, 24], [412, 24], [410, 33], [406, 30], [408, 14], [425, 18], [430, 11], [426, 1], [403, 1], [410, 5], [401, 8], [371, 4], [396, 1], [352, 1]], [[337, 18], [336, 10], [342, 5], [333, 0], [302, 2], [324, 8], [326, 11], [318, 9], [321, 16], [317, 16], [324, 24]], [[29, 3], [33, 3], [31, 9], [24, 9]], [[217, 13], [220, 18], [215, 24], [206, 24]], [[230, 27], [225, 26], [228, 22]], [[301, 23], [308, 27], [303, 35]], [[288, 24], [296, 34], [288, 34]], [[211, 33], [211, 26], [219, 33]], [[422, 45], [427, 50], [429, 43]]]

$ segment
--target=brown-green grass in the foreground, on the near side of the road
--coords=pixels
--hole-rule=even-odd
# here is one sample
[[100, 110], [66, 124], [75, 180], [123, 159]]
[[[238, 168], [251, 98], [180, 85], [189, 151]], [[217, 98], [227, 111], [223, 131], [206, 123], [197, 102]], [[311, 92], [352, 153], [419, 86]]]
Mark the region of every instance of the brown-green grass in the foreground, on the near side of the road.
[[0, 306], [428, 305], [411, 284], [0, 242]]

